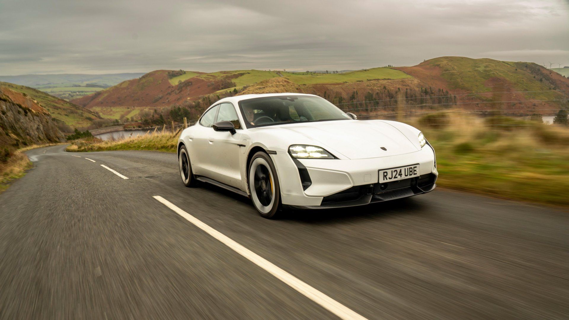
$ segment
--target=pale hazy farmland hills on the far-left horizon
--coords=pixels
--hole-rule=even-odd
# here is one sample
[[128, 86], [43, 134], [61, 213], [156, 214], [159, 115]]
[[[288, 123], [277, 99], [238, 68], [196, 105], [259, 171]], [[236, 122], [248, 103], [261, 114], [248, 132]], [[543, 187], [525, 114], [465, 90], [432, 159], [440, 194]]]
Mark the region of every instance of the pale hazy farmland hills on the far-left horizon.
[[71, 100], [143, 75], [144, 73], [108, 73], [104, 75], [63, 73], [59, 75], [0, 76], [0, 81], [25, 85], [61, 99]]

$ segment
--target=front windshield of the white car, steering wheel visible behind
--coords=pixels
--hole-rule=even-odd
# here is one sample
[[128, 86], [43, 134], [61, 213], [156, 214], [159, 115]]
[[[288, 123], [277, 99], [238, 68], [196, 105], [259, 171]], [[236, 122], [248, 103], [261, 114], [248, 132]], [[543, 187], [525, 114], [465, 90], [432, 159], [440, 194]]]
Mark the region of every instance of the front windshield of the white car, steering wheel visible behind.
[[337, 106], [316, 96], [273, 96], [241, 100], [247, 128], [299, 122], [349, 120]]

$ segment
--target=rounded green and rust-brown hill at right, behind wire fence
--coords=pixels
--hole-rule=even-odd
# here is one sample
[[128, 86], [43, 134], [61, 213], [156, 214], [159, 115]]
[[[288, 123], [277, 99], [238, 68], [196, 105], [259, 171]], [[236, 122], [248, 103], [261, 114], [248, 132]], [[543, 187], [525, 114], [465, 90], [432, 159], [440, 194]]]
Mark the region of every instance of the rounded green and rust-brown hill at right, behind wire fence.
[[[559, 109], [567, 102], [524, 100], [563, 100], [569, 96], [569, 91], [554, 92], [569, 90], [569, 79], [535, 63], [447, 56], [426, 60], [414, 67], [395, 69], [404, 71], [430, 87], [447, 88], [455, 95], [491, 93], [461, 96], [459, 101], [521, 101], [509, 102], [508, 108], [527, 110], [527, 113], [532, 113], [533, 109], [537, 109], [537, 113], [539, 110]], [[550, 110], [549, 113], [553, 112]]]

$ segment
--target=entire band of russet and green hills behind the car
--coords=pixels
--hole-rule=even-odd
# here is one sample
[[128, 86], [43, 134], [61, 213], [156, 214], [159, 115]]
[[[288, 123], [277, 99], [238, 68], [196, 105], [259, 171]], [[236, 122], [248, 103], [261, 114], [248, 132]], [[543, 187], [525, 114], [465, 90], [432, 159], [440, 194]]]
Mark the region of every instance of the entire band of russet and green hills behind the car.
[[[158, 70], [139, 79], [123, 81], [72, 100], [73, 103], [96, 110], [103, 117], [135, 117], [140, 110], [160, 109], [172, 105], [191, 108], [195, 101], [209, 104], [227, 95], [268, 92], [314, 93], [336, 104], [361, 101], [386, 101], [355, 108], [393, 106], [398, 92], [405, 92], [422, 104], [453, 104], [461, 102], [562, 100], [559, 92], [569, 89], [569, 79], [534, 63], [440, 57], [413, 67], [381, 67], [344, 73], [284, 72], [234, 70], [204, 73], [196, 71]], [[464, 96], [470, 93], [518, 92]], [[535, 92], [540, 91], [540, 92]], [[437, 98], [439, 96], [452, 96]], [[420, 99], [420, 100], [419, 100]], [[415, 101], [415, 100], [409, 100]], [[528, 113], [533, 109], [559, 109], [564, 101], [513, 102], [510, 109]], [[203, 104], [200, 104], [203, 108]], [[492, 104], [460, 105], [465, 109], [490, 108]], [[501, 107], [506, 109], [505, 105]], [[531, 110], [530, 110], [531, 109]], [[386, 109], [388, 110], [388, 109]], [[531, 112], [533, 113], [533, 112]]]

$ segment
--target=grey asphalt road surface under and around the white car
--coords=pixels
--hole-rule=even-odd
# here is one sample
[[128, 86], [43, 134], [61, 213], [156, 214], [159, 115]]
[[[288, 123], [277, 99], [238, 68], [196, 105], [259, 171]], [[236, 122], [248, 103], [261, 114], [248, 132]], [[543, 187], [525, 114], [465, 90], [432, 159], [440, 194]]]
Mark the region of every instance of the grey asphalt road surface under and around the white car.
[[567, 212], [435, 190], [267, 220], [174, 154], [63, 149], [0, 194], [0, 319], [337, 319], [153, 196], [368, 319], [569, 316]]

